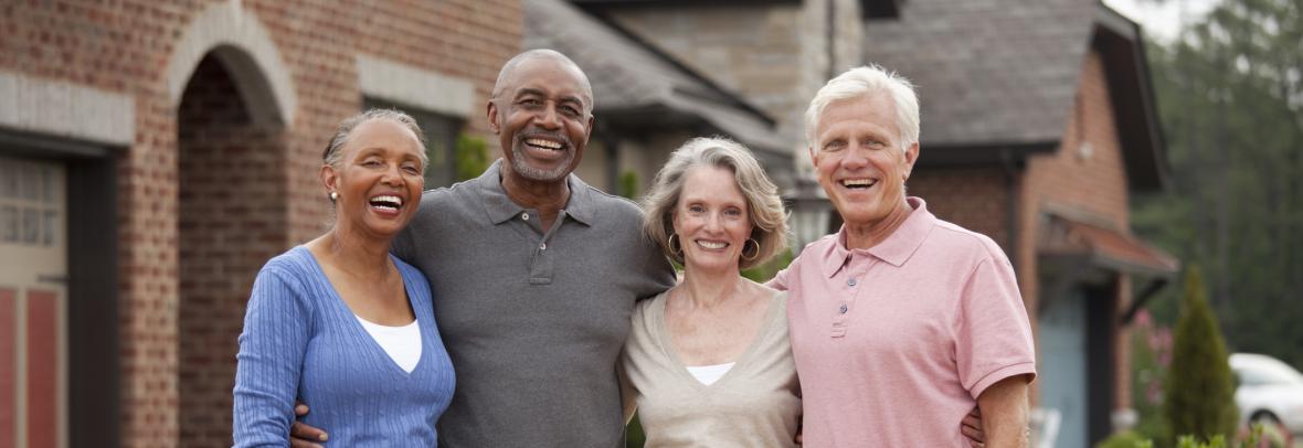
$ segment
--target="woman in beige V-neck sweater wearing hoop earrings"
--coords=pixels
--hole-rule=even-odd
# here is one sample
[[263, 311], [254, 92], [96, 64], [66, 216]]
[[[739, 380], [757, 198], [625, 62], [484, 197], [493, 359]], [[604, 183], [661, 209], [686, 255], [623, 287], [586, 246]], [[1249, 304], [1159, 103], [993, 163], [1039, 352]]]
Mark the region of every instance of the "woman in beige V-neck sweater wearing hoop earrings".
[[741, 145], [697, 138], [661, 169], [645, 207], [644, 229], [684, 268], [678, 287], [638, 303], [624, 345], [646, 445], [794, 445], [786, 293], [740, 275], [786, 247], [778, 189]]

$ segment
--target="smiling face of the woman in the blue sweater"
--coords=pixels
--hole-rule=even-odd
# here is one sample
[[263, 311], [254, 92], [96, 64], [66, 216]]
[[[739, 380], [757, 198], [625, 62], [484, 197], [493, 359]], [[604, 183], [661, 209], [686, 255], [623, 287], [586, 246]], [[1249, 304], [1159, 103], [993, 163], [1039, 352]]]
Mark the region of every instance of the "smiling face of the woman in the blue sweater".
[[397, 234], [425, 189], [421, 142], [392, 120], [370, 120], [348, 135], [337, 167], [322, 167], [322, 181], [335, 199], [336, 232]]

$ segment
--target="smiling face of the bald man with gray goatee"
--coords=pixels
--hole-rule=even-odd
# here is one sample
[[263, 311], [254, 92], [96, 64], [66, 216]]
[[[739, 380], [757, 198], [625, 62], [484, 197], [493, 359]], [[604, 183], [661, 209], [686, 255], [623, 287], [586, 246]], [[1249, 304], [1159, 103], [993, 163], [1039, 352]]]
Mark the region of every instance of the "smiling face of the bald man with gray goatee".
[[508, 64], [489, 102], [489, 126], [498, 134], [512, 172], [529, 181], [556, 182], [575, 171], [593, 125], [593, 99], [584, 73], [558, 57]]

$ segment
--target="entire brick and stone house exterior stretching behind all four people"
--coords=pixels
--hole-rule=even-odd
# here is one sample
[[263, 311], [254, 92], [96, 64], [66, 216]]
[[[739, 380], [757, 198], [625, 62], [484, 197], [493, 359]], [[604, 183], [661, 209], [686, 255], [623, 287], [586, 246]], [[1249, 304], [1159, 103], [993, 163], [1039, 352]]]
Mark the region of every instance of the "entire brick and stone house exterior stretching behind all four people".
[[1128, 224], [1165, 182], [1140, 30], [1095, 0], [25, 1], [0, 29], [0, 447], [229, 445], [244, 303], [324, 231], [335, 124], [413, 113], [447, 185], [523, 48], [592, 78], [592, 185], [633, 194], [688, 138], [732, 137], [797, 247], [838, 225], [809, 99], [865, 63], [915, 81], [911, 194], [1010, 255], [1058, 447], [1127, 425], [1127, 319], [1177, 268]]

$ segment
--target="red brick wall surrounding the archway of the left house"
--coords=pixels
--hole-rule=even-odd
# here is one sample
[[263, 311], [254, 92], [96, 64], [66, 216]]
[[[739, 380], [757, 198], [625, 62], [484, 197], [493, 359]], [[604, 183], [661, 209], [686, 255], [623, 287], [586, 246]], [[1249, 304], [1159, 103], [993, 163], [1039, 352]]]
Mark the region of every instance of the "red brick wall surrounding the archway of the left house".
[[[297, 99], [291, 122], [244, 113], [250, 105], [233, 89], [249, 89], [237, 81], [249, 72], [212, 57], [189, 68], [180, 105], [173, 100], [167, 68], [179, 40], [219, 7], [266, 30]], [[361, 107], [357, 55], [470, 79], [480, 111], [498, 68], [520, 48], [521, 8], [508, 0], [7, 1], [0, 29], [0, 70], [134, 99], [134, 139], [116, 152], [121, 444], [223, 445], [251, 273], [324, 228], [317, 167], [335, 124]], [[254, 78], [278, 69], [257, 68]], [[480, 116], [466, 121], [485, 132]]]

